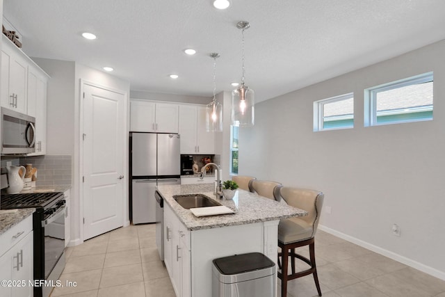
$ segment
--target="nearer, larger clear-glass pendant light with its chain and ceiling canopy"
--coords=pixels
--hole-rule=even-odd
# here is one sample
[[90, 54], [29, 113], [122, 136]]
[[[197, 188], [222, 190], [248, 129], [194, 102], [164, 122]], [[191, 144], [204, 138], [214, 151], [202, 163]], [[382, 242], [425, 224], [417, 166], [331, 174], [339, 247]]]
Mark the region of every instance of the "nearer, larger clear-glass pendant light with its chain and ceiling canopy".
[[238, 22], [236, 28], [241, 29], [243, 35], [242, 57], [243, 76], [241, 86], [232, 91], [232, 125], [250, 127], [254, 125], [254, 91], [244, 83], [244, 30], [250, 27], [249, 22]]

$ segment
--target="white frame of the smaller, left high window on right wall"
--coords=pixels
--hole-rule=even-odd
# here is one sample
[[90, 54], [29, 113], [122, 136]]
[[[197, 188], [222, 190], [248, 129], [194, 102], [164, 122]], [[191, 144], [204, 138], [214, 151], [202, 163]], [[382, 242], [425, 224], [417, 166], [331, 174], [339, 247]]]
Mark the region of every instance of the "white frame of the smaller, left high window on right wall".
[[[325, 127], [325, 117], [324, 117], [324, 110], [325, 105], [334, 103], [334, 102], [340, 102], [347, 99], [353, 99], [353, 114], [352, 114], [352, 120], [353, 124], [352, 126], [344, 125], [344, 126], [338, 126], [338, 127]], [[329, 131], [329, 130], [340, 130], [340, 129], [353, 129], [354, 128], [354, 93], [346, 93], [326, 99], [321, 99], [314, 102], [314, 132], [316, 131]], [[348, 115], [339, 115], [339, 120], [350, 120], [350, 116]]]

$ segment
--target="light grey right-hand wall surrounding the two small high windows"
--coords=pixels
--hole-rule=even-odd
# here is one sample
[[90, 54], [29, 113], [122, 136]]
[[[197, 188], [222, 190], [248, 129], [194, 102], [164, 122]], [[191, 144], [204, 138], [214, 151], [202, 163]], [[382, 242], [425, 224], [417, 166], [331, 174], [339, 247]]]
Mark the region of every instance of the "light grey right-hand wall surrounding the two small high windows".
[[[364, 127], [364, 89], [434, 71], [434, 120]], [[355, 127], [313, 132], [313, 102], [354, 92]], [[325, 193], [325, 230], [445, 280], [445, 40], [261, 102], [241, 175]], [[401, 227], [401, 237], [391, 225]]]

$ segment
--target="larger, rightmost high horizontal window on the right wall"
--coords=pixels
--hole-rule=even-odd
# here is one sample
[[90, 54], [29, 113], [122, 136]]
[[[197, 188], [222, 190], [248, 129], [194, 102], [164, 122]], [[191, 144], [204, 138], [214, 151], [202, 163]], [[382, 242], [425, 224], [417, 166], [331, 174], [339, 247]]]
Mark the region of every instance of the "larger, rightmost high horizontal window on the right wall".
[[432, 72], [365, 90], [365, 127], [432, 120]]

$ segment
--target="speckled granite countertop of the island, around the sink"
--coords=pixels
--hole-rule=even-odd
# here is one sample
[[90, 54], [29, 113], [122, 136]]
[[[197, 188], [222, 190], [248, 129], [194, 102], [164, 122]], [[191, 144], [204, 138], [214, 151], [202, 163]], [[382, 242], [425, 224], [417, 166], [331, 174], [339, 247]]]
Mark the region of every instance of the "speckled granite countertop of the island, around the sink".
[[266, 222], [268, 220], [281, 220], [294, 216], [306, 216], [307, 211], [291, 207], [285, 202], [277, 202], [261, 197], [256, 193], [250, 193], [238, 189], [238, 197], [233, 200], [218, 200], [221, 204], [235, 211], [235, 214], [218, 216], [196, 217], [190, 209], [184, 209], [179, 205], [173, 195], [201, 193], [215, 199], [213, 184], [185, 184], [172, 186], [158, 186], [158, 191], [178, 216], [179, 220], [188, 230], [202, 230], [217, 227], [245, 225], [251, 223]]

